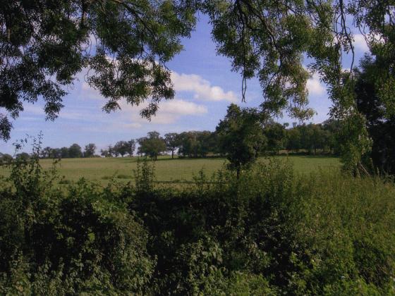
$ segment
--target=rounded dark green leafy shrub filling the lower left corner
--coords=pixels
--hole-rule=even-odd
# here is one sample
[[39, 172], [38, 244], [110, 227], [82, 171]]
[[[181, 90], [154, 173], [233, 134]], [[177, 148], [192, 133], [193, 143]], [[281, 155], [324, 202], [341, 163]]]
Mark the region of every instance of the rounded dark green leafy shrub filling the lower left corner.
[[64, 192], [38, 162], [15, 164], [0, 189], [0, 294], [142, 293], [154, 259], [119, 194], [85, 180]]

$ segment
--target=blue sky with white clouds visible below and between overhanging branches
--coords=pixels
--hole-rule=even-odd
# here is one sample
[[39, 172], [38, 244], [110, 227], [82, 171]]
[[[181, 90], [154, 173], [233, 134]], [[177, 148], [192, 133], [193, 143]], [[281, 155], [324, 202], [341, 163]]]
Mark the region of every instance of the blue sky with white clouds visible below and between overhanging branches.
[[[176, 96], [171, 101], [159, 104], [157, 115], [152, 121], [140, 118], [141, 106], [121, 104], [121, 111], [105, 113], [102, 106], [105, 99], [84, 80], [80, 73], [73, 86], [67, 88], [63, 98], [65, 105], [55, 121], [45, 121], [42, 101], [25, 104], [25, 110], [13, 121], [11, 140], [0, 142], [0, 152], [13, 154], [13, 142], [27, 136], [37, 136], [42, 132], [43, 147], [69, 147], [73, 143], [84, 147], [88, 143], [99, 149], [115, 144], [119, 140], [143, 137], [152, 130], [164, 135], [166, 132], [187, 130], [214, 131], [217, 123], [226, 114], [231, 103], [239, 106], [259, 106], [262, 103], [262, 90], [257, 80], [248, 81], [246, 102], [241, 101], [241, 75], [231, 71], [231, 61], [216, 54], [212, 41], [211, 26], [206, 16], [199, 21], [191, 37], [183, 39], [183, 51], [167, 66], [172, 71]], [[362, 35], [355, 37], [355, 61], [358, 63], [368, 50]], [[344, 59], [344, 67], [351, 65], [351, 58]], [[348, 66], [349, 68], [349, 66]], [[318, 75], [308, 80], [310, 107], [316, 115], [309, 121], [320, 123], [327, 119], [331, 106], [327, 99], [325, 85]], [[292, 123], [293, 118], [277, 118], [280, 123]], [[25, 151], [29, 151], [26, 147]]]

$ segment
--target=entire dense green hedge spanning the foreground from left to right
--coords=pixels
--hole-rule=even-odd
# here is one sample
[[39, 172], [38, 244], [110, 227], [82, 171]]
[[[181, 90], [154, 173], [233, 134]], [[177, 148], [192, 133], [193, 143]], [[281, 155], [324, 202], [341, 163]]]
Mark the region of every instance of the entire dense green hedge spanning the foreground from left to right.
[[387, 295], [395, 189], [258, 164], [154, 187], [51, 183], [34, 159], [0, 187], [0, 294]]

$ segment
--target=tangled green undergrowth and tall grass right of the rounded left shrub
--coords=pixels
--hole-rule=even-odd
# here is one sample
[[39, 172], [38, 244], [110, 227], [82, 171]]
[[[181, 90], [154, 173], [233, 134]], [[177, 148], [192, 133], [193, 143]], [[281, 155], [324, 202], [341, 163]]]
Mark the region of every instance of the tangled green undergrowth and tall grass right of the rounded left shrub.
[[279, 161], [240, 180], [221, 173], [195, 181], [130, 202], [152, 235], [159, 294], [231, 295], [235, 277], [246, 290], [262, 282], [262, 294], [393, 291], [393, 185], [337, 172], [293, 175]]

